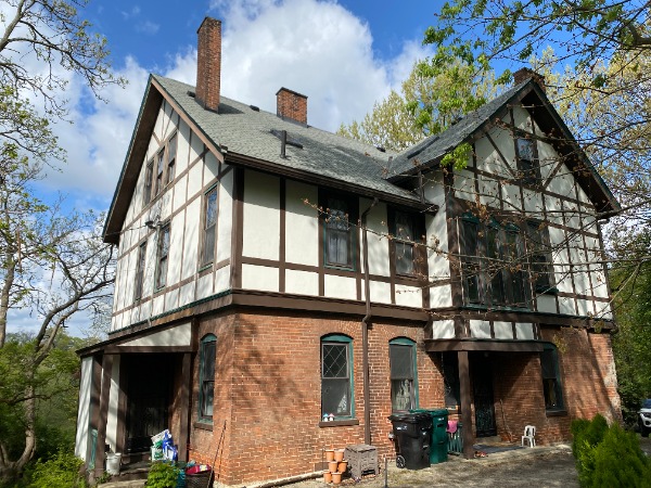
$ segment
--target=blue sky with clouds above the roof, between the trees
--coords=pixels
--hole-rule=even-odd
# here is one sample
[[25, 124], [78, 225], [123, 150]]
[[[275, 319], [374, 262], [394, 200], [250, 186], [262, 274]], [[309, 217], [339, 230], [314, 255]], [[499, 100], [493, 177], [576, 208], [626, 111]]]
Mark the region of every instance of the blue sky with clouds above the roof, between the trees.
[[149, 73], [194, 85], [196, 29], [206, 15], [222, 21], [224, 95], [275, 111], [284, 86], [308, 95], [311, 125], [334, 131], [399, 88], [427, 54], [423, 33], [441, 3], [91, 0], [82, 15], [107, 38], [114, 69], [129, 85], [105, 90], [104, 104], [71, 80], [74, 124], [55, 128], [68, 160], [41, 191], [63, 192], [80, 209], [108, 207]]

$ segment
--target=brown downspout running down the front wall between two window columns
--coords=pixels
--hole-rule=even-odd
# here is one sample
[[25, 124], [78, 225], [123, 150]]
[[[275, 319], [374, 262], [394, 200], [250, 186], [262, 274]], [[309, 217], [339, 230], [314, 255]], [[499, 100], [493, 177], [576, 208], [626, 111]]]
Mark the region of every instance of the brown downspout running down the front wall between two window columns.
[[371, 320], [371, 293], [369, 284], [369, 246], [367, 239], [366, 220], [369, 211], [378, 205], [378, 197], [373, 198], [371, 206], [361, 214], [361, 246], [363, 253], [363, 296], [366, 298], [366, 316], [361, 319], [361, 361], [363, 371], [363, 442], [371, 444], [371, 393], [369, 390], [369, 320]]

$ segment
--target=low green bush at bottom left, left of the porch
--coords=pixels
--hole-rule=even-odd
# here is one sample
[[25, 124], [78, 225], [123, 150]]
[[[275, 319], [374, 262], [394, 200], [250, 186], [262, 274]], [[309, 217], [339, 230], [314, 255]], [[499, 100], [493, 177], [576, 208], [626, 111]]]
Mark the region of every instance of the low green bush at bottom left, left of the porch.
[[47, 461], [38, 460], [30, 473], [33, 488], [86, 488], [84, 461], [74, 454], [59, 451]]

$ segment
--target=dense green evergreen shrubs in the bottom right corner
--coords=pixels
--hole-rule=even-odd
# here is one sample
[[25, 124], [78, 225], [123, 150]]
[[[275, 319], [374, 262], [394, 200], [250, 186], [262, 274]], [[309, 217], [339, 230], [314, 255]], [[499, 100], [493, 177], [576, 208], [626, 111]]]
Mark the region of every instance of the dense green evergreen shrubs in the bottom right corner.
[[635, 434], [617, 424], [610, 427], [602, 415], [577, 419], [571, 426], [572, 453], [584, 488], [651, 486], [651, 462]]

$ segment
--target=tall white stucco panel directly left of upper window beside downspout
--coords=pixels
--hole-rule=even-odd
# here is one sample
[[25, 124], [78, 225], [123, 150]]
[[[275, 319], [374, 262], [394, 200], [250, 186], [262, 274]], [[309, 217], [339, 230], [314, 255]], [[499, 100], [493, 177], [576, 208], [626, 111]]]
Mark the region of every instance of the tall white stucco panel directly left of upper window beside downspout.
[[285, 261], [319, 266], [318, 189], [288, 180], [285, 195]]

